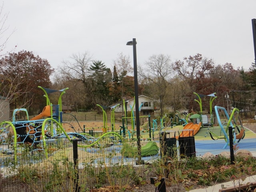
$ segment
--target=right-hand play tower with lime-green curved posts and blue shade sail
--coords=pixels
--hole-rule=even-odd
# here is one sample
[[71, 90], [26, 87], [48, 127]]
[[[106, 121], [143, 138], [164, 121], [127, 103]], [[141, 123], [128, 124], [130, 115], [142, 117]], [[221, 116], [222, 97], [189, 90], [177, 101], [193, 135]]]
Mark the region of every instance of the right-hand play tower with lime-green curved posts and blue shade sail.
[[[202, 94], [197, 94], [197, 93], [193, 93], [197, 96], [198, 100], [195, 99], [194, 101], [198, 102], [199, 106], [200, 106], [200, 118], [198, 119], [198, 122], [202, 122], [202, 127], [204, 126], [213, 126], [213, 114], [212, 114], [212, 103], [213, 101], [217, 98], [217, 96], [215, 96], [216, 93], [212, 93], [209, 95], [202, 95]], [[202, 110], [202, 97], [205, 96], [210, 96], [210, 121], [208, 120], [208, 116], [207, 115], [203, 115], [203, 110]]]

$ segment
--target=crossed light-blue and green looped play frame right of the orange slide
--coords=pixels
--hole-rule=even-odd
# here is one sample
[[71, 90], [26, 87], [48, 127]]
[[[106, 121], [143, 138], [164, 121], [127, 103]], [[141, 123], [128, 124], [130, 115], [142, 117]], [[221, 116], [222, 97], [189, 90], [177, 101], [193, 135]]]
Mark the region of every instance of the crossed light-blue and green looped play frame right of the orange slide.
[[232, 127], [233, 142], [234, 143], [240, 142], [240, 140], [243, 139], [245, 136], [244, 126], [239, 116], [240, 110], [237, 108], [234, 108], [232, 110], [231, 115], [229, 116], [228, 112], [223, 107], [215, 106], [214, 109], [215, 109], [216, 117], [218, 120], [218, 124], [222, 130], [222, 133], [224, 134], [224, 137], [218, 136], [217, 134], [210, 132], [211, 138], [213, 140], [224, 139], [226, 141], [226, 144], [224, 145], [223, 148], [225, 149], [229, 145], [228, 128]]

